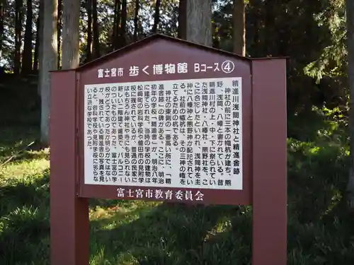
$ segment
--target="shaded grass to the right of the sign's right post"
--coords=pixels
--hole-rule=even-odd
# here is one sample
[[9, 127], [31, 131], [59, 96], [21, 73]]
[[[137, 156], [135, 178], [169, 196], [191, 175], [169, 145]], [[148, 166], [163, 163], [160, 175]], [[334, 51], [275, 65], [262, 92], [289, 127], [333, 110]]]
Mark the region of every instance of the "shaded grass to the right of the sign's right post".
[[348, 142], [338, 131], [288, 141], [288, 265], [354, 264]]

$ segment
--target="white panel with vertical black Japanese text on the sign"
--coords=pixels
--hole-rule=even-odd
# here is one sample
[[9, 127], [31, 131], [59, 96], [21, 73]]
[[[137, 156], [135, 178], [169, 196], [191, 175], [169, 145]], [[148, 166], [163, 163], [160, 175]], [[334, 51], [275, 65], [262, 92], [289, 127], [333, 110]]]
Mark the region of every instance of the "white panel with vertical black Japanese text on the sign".
[[84, 181], [242, 189], [241, 78], [84, 87]]

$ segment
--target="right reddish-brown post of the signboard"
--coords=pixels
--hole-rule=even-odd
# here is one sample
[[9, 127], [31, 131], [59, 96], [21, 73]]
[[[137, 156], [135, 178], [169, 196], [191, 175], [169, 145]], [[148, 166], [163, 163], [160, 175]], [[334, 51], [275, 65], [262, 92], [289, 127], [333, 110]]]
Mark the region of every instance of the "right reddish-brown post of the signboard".
[[252, 265], [287, 264], [286, 60], [252, 62]]

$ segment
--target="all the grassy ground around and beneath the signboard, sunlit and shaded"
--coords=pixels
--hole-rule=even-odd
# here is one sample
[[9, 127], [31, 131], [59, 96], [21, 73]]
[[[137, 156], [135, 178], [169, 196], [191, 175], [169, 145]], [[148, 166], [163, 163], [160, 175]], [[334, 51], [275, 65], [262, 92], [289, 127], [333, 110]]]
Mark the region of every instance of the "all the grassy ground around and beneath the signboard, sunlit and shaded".
[[[314, 111], [310, 127], [301, 117], [290, 124], [290, 265], [354, 264], [347, 139], [332, 116]], [[48, 150], [25, 150], [2, 165], [37, 136], [30, 125], [0, 127], [1, 265], [50, 264]], [[249, 206], [91, 200], [91, 264], [251, 264], [251, 216]]]

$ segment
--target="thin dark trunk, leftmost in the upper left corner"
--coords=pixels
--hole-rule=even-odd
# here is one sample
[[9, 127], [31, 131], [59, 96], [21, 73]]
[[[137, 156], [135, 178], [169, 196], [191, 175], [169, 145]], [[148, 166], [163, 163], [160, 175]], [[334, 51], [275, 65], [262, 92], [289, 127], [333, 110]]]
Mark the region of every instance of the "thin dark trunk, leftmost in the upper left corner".
[[15, 4], [16, 20], [15, 20], [15, 60], [13, 64], [13, 72], [20, 73], [21, 69], [21, 46], [22, 46], [22, 8], [23, 0], [17, 0]]

